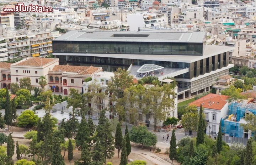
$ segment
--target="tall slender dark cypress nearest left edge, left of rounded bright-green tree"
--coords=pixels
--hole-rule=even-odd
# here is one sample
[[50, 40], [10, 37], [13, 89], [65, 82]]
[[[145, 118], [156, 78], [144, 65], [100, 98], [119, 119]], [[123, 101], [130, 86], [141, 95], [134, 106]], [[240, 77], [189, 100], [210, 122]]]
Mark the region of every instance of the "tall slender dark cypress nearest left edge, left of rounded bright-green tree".
[[12, 124], [12, 107], [11, 107], [11, 102], [10, 102], [10, 95], [9, 91], [6, 86], [6, 95], [5, 95], [5, 115], [4, 115], [4, 120], [7, 125], [7, 129], [9, 130], [9, 125]]

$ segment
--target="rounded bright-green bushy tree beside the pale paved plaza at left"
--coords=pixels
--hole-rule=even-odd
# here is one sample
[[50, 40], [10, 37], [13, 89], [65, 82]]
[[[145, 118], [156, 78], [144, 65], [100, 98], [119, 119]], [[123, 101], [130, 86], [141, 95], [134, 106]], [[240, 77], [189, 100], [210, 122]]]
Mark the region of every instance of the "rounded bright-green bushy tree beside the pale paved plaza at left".
[[17, 126], [27, 128], [28, 125], [34, 126], [37, 124], [38, 116], [34, 114], [33, 110], [25, 110], [17, 118]]

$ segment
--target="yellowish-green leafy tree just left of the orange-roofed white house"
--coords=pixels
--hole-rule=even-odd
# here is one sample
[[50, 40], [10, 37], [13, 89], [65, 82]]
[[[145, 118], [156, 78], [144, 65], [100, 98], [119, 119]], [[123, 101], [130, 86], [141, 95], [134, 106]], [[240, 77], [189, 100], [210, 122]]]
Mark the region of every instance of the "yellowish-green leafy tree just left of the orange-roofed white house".
[[194, 105], [190, 105], [185, 107], [185, 114], [183, 114], [181, 118], [181, 124], [187, 131], [196, 131], [198, 124], [198, 112], [197, 107]]

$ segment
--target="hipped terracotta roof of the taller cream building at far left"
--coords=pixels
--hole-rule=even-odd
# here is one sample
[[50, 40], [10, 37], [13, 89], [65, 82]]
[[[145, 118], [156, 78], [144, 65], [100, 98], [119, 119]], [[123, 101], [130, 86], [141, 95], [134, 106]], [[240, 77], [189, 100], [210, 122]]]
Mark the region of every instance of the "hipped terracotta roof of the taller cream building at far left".
[[56, 58], [42, 58], [42, 57], [31, 57], [27, 58], [22, 62], [17, 62], [18, 66], [44, 66], [52, 61], [54, 61]]

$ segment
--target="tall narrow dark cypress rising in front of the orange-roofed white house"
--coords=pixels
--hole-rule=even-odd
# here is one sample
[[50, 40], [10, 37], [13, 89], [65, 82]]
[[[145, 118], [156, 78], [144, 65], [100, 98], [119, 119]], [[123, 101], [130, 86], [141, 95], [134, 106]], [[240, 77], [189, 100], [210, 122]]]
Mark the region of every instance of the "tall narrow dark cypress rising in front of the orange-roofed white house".
[[205, 130], [205, 128], [206, 128], [206, 123], [205, 123], [205, 120], [203, 118], [203, 108], [202, 108], [202, 104], [201, 104], [200, 110], [199, 110], [199, 121], [198, 121], [198, 129], [197, 129], [197, 141], [196, 141], [197, 146], [204, 142], [204, 130]]

